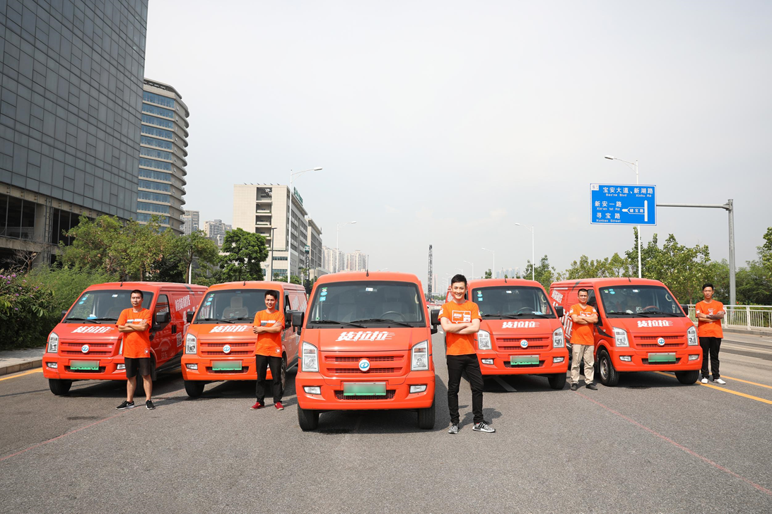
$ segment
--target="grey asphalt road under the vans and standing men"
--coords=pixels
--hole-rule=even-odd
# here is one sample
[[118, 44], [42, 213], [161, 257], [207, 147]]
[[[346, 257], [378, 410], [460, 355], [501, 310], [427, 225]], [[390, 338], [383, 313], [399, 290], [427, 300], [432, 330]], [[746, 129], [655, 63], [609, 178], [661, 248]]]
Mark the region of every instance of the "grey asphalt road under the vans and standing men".
[[293, 385], [283, 412], [253, 412], [253, 382], [191, 400], [177, 371], [156, 410], [119, 412], [124, 382], [56, 397], [39, 370], [0, 378], [0, 512], [772, 512], [772, 337], [727, 334], [723, 387], [486, 381], [495, 434], [472, 432], [465, 381], [458, 435], [441, 338], [433, 431], [348, 412], [303, 433]]

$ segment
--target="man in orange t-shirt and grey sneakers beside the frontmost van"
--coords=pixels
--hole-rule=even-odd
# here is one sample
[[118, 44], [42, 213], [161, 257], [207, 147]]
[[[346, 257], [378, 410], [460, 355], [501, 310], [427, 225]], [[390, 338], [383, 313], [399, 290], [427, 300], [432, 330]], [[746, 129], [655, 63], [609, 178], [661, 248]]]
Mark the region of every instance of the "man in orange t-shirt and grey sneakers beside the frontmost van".
[[450, 281], [452, 300], [442, 305], [438, 317], [445, 331], [445, 357], [448, 361], [448, 408], [450, 411], [449, 434], [459, 433], [459, 387], [461, 375], [466, 371], [472, 388], [472, 413], [476, 432], [496, 432], [482, 419], [482, 373], [475, 351], [475, 334], [480, 329], [477, 304], [464, 299], [466, 277], [455, 275]]

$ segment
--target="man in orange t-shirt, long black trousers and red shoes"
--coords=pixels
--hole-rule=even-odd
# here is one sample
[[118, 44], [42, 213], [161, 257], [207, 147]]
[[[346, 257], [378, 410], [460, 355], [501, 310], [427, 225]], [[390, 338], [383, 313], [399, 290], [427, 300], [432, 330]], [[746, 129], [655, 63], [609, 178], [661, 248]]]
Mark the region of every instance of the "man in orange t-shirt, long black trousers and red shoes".
[[276, 309], [279, 293], [266, 291], [266, 310], [255, 314], [252, 331], [257, 334], [255, 343], [255, 368], [257, 384], [255, 396], [257, 401], [250, 407], [253, 411], [261, 408], [266, 398], [266, 371], [271, 368], [273, 377], [273, 406], [283, 411], [282, 405], [282, 331], [284, 330], [284, 313]]

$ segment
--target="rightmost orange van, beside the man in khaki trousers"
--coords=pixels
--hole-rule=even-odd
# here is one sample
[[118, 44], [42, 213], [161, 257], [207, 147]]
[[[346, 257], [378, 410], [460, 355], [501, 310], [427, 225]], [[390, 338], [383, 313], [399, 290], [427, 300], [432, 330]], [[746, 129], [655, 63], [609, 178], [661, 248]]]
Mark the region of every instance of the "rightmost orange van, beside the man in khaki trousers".
[[617, 385], [627, 371], [675, 371], [682, 384], [699, 378], [702, 349], [697, 331], [665, 284], [645, 278], [589, 278], [555, 282], [550, 297], [564, 307], [571, 341], [571, 305], [587, 289], [587, 304], [598, 310], [595, 361], [603, 385]]

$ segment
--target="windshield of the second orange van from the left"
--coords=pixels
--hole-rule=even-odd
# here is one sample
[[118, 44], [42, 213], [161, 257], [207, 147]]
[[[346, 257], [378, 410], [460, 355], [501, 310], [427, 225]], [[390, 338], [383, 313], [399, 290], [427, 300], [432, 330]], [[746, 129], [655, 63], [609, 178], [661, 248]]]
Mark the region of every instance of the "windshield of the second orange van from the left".
[[[266, 310], [267, 289], [223, 289], [209, 291], [198, 307], [196, 323], [252, 323], [258, 311]], [[276, 302], [280, 308], [281, 293]]]

